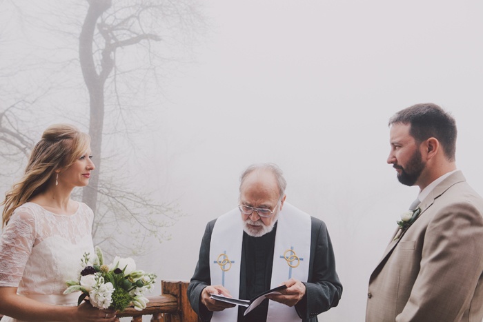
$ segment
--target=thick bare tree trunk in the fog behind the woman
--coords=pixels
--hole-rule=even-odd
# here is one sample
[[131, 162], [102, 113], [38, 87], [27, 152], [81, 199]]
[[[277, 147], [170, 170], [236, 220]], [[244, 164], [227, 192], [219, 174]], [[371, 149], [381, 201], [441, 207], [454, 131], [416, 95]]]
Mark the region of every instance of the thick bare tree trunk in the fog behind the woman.
[[[136, 46], [141, 41], [159, 41], [156, 34], [144, 32], [141, 25], [141, 14], [150, 10], [152, 5], [137, 3], [135, 7], [120, 8], [117, 16], [106, 21], [106, 11], [112, 6], [111, 0], [88, 0], [89, 8], [79, 37], [79, 57], [83, 79], [89, 91], [90, 123], [89, 134], [92, 138], [92, 153], [101, 155], [104, 124], [104, 90], [106, 80], [115, 68], [115, 53], [118, 48]], [[127, 11], [124, 14], [124, 11]], [[99, 21], [100, 20], [100, 21]], [[99, 21], [99, 23], [97, 22]], [[136, 26], [137, 25], [137, 26]], [[95, 31], [99, 32], [103, 43], [97, 50], [101, 52], [99, 63], [95, 62]], [[97, 168], [101, 169], [101, 161]], [[99, 191], [99, 171], [92, 175], [90, 189], [83, 190], [83, 201], [96, 210], [97, 193]]]

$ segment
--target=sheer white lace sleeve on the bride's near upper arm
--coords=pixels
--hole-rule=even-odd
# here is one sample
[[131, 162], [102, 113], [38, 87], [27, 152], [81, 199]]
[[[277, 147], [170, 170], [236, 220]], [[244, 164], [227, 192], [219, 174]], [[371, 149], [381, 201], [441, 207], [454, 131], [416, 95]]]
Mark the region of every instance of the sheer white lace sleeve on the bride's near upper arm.
[[35, 236], [34, 215], [27, 208], [17, 208], [1, 234], [0, 286], [19, 286]]

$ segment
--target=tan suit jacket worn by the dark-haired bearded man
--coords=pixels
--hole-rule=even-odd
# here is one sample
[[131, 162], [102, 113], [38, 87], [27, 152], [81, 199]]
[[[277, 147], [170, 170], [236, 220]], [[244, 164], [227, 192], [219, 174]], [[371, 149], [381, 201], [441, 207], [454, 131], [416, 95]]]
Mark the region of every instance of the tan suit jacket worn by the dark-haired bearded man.
[[457, 171], [420, 208], [371, 274], [366, 321], [482, 322], [482, 197]]

